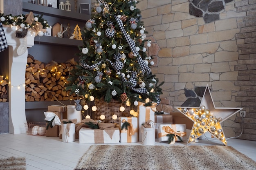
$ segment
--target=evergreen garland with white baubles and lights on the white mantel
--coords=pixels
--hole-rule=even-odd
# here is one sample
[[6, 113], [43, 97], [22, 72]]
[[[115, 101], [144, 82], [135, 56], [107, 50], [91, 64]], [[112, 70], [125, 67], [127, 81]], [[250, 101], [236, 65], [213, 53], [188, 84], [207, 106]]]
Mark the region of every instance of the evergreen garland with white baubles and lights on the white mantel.
[[17, 38], [24, 38], [27, 36], [27, 31], [34, 31], [39, 36], [43, 36], [46, 28], [51, 28], [47, 20], [43, 19], [43, 15], [34, 15], [32, 12], [26, 15], [12, 14], [4, 15], [0, 13], [0, 22], [3, 25], [10, 26], [12, 31], [16, 31]]

